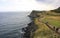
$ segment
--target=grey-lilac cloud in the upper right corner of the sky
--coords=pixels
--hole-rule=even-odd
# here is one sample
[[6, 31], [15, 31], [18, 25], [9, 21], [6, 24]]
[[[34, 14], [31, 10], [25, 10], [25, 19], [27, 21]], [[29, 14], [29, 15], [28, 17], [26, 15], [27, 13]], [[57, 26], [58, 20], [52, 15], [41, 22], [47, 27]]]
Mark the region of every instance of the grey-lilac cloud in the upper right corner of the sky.
[[60, 6], [60, 0], [36, 0], [38, 2], [42, 2], [44, 4], [49, 4], [54, 7], [59, 7]]

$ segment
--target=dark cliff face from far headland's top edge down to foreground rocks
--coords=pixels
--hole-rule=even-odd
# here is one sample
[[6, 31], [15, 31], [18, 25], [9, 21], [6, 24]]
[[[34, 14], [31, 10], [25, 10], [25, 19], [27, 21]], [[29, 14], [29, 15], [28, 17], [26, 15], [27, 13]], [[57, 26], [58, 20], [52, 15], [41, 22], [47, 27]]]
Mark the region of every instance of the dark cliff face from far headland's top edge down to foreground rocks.
[[35, 10], [33, 10], [31, 12], [31, 14], [29, 15], [29, 17], [32, 20], [32, 22], [29, 23], [27, 27], [22, 28], [22, 30], [25, 32], [24, 35], [23, 35], [24, 38], [33, 38], [34, 32], [38, 28], [37, 25], [34, 23], [34, 18], [39, 17], [39, 15], [42, 12], [45, 12], [45, 11], [35, 11]]

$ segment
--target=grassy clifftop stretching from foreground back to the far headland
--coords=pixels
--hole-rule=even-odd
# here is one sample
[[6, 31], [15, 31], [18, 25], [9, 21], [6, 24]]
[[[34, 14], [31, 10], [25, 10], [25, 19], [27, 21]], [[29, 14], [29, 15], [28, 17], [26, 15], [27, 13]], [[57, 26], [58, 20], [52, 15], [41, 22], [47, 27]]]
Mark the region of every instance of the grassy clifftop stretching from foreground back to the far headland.
[[[35, 14], [34, 14], [34, 13]], [[34, 32], [33, 38], [60, 38], [60, 35], [51, 30], [45, 22], [56, 28], [60, 27], [60, 8], [53, 11], [33, 11], [31, 14], [34, 18], [38, 29]], [[44, 22], [44, 23], [43, 23]]]

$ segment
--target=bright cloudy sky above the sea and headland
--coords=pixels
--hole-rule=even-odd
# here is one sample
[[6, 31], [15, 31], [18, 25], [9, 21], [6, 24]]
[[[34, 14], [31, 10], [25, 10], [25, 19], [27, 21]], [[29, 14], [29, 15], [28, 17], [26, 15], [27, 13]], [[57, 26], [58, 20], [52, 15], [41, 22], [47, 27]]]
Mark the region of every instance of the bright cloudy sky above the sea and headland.
[[51, 10], [59, 4], [60, 0], [0, 0], [0, 11]]

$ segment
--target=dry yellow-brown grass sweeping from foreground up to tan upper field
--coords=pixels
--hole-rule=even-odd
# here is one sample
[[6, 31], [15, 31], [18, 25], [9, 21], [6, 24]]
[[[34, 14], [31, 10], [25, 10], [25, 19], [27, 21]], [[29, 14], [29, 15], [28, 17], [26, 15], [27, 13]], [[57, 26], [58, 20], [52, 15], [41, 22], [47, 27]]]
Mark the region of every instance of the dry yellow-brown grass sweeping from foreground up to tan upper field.
[[[35, 18], [34, 22], [38, 26], [38, 29], [34, 32], [34, 36], [33, 36], [34, 38], [60, 38], [59, 34], [54, 32], [53, 30], [48, 28], [44, 23], [41, 22], [41, 21], [46, 20], [46, 19], [48, 19], [49, 21], [54, 20], [52, 22], [55, 22], [55, 20], [60, 21], [59, 14], [49, 12], [48, 14], [50, 14], [50, 15], [47, 15], [47, 13], [40, 14], [40, 17]], [[58, 22], [56, 22], [56, 24], [59, 25]]]

